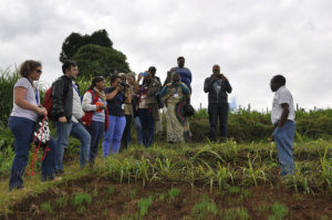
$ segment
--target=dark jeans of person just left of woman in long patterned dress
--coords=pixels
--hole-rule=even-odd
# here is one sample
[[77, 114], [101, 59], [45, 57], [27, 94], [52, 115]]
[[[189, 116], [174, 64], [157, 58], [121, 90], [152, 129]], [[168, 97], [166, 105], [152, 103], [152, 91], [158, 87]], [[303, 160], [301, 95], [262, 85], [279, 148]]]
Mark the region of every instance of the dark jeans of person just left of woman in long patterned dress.
[[149, 108], [138, 108], [138, 117], [142, 124], [142, 139], [145, 147], [151, 147], [154, 143], [155, 121]]

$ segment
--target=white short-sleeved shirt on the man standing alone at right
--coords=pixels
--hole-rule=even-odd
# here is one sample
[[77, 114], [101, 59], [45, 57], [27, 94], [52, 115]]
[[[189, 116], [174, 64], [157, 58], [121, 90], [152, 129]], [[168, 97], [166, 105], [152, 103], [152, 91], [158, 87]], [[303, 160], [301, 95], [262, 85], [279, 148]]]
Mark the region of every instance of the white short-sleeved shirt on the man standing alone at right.
[[276, 125], [281, 118], [283, 112], [281, 104], [283, 103], [287, 103], [289, 105], [289, 114], [287, 119], [295, 121], [293, 96], [286, 86], [281, 86], [278, 88], [278, 91], [276, 91], [273, 97], [271, 112], [271, 121], [273, 125]]

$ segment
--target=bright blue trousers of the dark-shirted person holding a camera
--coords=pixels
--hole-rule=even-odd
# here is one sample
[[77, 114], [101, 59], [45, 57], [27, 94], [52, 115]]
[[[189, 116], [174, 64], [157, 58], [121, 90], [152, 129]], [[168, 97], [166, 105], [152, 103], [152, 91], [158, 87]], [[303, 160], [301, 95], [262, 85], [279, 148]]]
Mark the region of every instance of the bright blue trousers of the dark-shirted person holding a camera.
[[107, 130], [104, 133], [103, 151], [104, 157], [110, 155], [112, 145], [112, 154], [117, 154], [120, 150], [121, 138], [126, 126], [125, 116], [108, 115], [110, 124]]

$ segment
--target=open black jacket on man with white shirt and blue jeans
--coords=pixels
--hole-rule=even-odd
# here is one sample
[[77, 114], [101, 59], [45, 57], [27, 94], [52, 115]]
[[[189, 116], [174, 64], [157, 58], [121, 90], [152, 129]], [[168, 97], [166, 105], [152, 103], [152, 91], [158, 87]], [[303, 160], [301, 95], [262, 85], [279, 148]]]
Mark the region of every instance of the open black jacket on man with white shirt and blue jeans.
[[58, 121], [65, 116], [71, 122], [73, 113], [73, 84], [65, 75], [59, 77], [52, 85], [52, 117]]

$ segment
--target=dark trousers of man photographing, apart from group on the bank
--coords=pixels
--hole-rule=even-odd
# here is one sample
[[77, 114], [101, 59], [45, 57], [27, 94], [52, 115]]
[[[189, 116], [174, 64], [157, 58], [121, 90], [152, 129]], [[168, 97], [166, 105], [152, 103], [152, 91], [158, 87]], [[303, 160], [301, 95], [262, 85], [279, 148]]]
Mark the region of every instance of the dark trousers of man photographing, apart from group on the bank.
[[217, 140], [217, 124], [219, 118], [220, 140], [226, 142], [227, 138], [227, 122], [228, 122], [228, 103], [210, 104], [208, 106], [210, 122], [210, 140]]

